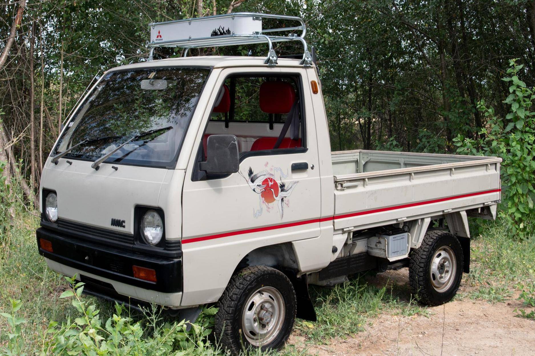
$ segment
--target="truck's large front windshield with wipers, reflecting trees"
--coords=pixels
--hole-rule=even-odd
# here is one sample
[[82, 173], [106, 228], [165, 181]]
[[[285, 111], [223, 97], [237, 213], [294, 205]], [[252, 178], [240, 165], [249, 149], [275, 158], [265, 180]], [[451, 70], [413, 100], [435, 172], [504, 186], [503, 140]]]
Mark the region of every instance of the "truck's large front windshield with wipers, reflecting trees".
[[106, 74], [52, 154], [95, 161], [117, 150], [105, 162], [172, 168], [209, 73], [150, 68]]

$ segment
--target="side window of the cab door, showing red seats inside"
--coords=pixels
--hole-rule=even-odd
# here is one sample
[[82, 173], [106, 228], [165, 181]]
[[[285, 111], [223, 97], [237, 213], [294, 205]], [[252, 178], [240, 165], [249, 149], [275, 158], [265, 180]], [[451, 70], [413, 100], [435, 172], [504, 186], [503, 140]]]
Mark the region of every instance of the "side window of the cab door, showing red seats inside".
[[[303, 108], [299, 75], [227, 77], [218, 91], [196, 160], [206, 160], [208, 138], [220, 134], [238, 138], [240, 160], [249, 155], [299, 152], [306, 147]], [[206, 178], [218, 177], [194, 172], [194, 180]]]

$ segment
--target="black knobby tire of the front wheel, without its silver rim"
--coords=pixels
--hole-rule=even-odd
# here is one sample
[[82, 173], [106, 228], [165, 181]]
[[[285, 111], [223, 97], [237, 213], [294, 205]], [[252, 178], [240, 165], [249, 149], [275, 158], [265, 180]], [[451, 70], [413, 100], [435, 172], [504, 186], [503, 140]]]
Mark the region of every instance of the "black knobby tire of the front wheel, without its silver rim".
[[285, 303], [285, 317], [278, 335], [269, 344], [261, 345], [262, 351], [278, 350], [284, 346], [295, 322], [297, 302], [294, 287], [288, 277], [266, 266], [250, 266], [236, 273], [219, 299], [216, 314], [215, 336], [220, 345], [232, 354], [254, 347], [243, 335], [242, 312], [248, 299], [262, 287], [276, 288]]

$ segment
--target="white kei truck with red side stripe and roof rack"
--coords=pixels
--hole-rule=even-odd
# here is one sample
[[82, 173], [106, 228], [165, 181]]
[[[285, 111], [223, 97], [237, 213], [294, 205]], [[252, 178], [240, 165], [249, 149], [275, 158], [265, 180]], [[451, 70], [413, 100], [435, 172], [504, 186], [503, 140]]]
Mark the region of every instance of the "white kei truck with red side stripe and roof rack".
[[[309, 284], [408, 267], [419, 302], [453, 298], [469, 272], [468, 217], [496, 216], [501, 159], [331, 152], [300, 18], [150, 29], [149, 60], [88, 88], [44, 165], [36, 238], [52, 270], [180, 320], [216, 303], [216, 337], [234, 354], [278, 349], [296, 317], [315, 320]], [[277, 56], [280, 41], [304, 53]], [[266, 58], [187, 56], [256, 43]], [[184, 56], [153, 60], [162, 47]]]

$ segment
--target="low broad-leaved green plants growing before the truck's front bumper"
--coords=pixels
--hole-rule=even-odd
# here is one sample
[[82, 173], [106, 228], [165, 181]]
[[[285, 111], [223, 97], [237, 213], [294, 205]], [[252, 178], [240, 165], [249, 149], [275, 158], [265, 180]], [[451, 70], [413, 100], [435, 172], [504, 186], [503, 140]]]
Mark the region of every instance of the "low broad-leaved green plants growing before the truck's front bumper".
[[[83, 283], [74, 278], [66, 278], [73, 289], [68, 289], [60, 298], [72, 298], [72, 305], [79, 312], [79, 317], [59, 324], [55, 321], [49, 323], [43, 335], [42, 349], [35, 350], [39, 355], [124, 355], [124, 356], [164, 356], [164, 355], [211, 355], [220, 354], [220, 350], [208, 340], [213, 325], [213, 315], [217, 312], [214, 307], [207, 308], [196, 323], [181, 322], [153, 323], [152, 335], [146, 335], [148, 330], [143, 328], [141, 322], [134, 322], [123, 315], [124, 308], [115, 305], [116, 313], [102, 322], [99, 311], [94, 304], [86, 305], [80, 296]], [[9, 342], [0, 355], [15, 356], [21, 353], [24, 344], [25, 320], [17, 317], [17, 311], [22, 303], [12, 300], [12, 313], [1, 313], [11, 327]]]

